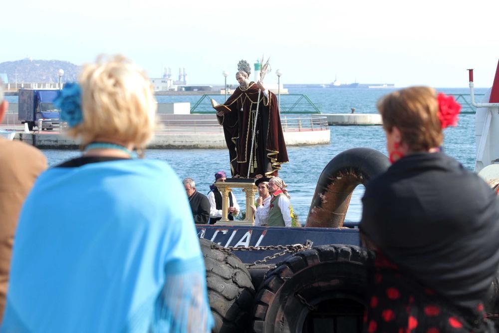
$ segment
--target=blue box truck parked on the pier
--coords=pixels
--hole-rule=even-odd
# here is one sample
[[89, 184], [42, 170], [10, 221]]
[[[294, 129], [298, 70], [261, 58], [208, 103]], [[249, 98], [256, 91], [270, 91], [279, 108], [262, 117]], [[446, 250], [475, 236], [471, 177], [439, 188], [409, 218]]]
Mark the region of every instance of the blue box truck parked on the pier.
[[51, 130], [59, 127], [60, 110], [53, 104], [57, 91], [54, 89], [19, 89], [19, 121], [27, 123], [30, 131], [34, 126], [37, 126], [38, 130]]

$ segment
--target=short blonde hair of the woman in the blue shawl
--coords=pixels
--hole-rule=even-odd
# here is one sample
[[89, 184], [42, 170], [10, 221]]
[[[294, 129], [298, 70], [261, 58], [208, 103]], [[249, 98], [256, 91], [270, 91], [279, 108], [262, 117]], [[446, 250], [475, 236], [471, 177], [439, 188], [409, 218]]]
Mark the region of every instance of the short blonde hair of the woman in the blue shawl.
[[78, 78], [83, 120], [67, 134], [81, 145], [99, 140], [143, 149], [156, 128], [157, 103], [145, 72], [122, 55], [99, 56]]

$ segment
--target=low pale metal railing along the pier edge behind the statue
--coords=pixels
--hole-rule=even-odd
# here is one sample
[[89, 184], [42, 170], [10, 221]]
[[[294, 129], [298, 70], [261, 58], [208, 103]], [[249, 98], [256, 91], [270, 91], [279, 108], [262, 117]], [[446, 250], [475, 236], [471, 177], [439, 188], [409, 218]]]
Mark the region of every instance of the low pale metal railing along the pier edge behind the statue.
[[[217, 119], [162, 119], [158, 134], [171, 133], [223, 133], [224, 129]], [[327, 130], [327, 117], [324, 116], [294, 116], [281, 117], [284, 132], [304, 132]]]

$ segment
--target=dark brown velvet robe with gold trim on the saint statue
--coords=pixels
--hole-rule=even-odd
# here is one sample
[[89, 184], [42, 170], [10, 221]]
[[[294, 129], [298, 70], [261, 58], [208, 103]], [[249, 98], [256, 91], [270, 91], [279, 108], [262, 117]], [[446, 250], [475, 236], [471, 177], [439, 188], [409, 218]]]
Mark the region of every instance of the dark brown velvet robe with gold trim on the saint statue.
[[224, 111], [224, 115], [217, 115], [217, 118], [224, 127], [233, 177], [246, 178], [249, 167], [250, 178], [256, 175], [277, 175], [280, 165], [289, 161], [277, 108], [277, 98], [275, 94], [268, 91], [268, 98], [260, 93], [253, 163], [250, 165], [251, 137], [257, 100], [258, 87], [254, 82], [250, 82], [247, 89], [243, 90], [238, 87], [224, 104], [214, 107], [217, 111]]

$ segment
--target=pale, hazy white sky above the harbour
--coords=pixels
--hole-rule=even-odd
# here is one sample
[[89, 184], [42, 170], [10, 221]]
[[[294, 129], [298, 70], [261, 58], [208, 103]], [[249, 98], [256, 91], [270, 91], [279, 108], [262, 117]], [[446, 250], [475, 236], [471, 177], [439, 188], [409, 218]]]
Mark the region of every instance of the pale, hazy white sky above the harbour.
[[161, 77], [236, 84], [239, 60], [270, 56], [264, 82], [490, 87], [499, 60], [499, 1], [2, 1], [0, 62], [81, 65], [121, 53]]

